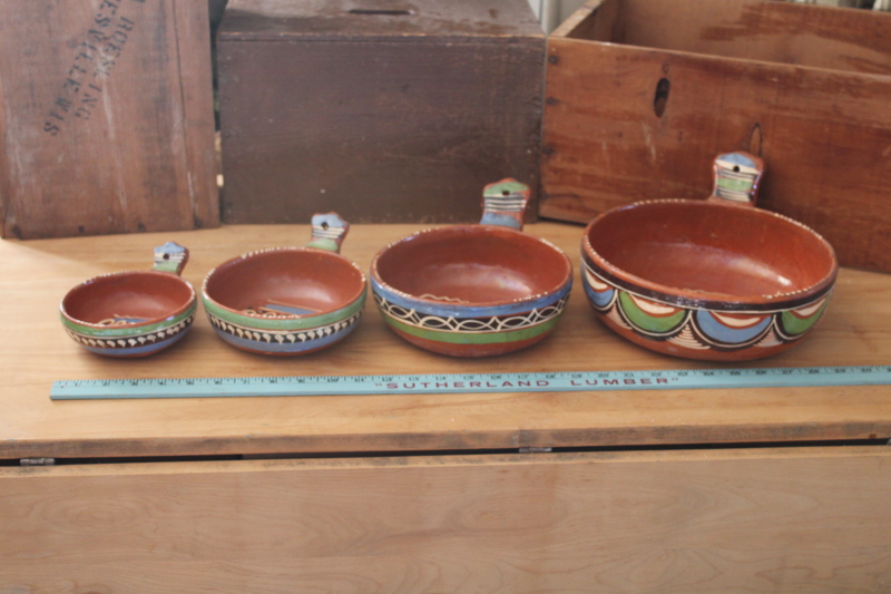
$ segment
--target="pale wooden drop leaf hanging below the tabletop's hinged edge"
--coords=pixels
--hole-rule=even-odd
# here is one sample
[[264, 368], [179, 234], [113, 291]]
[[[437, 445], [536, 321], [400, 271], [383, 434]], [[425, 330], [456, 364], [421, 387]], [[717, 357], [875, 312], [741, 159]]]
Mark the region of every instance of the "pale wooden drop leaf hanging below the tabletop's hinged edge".
[[0, 590], [884, 592], [887, 449], [2, 468]]

